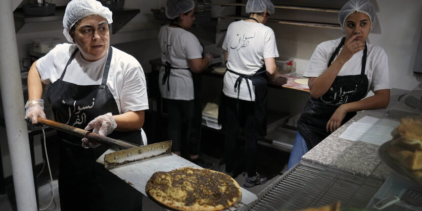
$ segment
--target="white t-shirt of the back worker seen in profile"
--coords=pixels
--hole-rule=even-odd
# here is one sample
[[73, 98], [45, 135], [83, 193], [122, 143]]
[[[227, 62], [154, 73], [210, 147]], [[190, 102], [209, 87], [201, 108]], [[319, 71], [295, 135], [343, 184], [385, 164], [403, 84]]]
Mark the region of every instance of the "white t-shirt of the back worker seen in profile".
[[[161, 27], [158, 33], [161, 48], [161, 62], [169, 62], [174, 68], [189, 68], [187, 60], [202, 58], [203, 47], [198, 38], [182, 28], [173, 28], [169, 25]], [[192, 100], [194, 99], [194, 83], [192, 73], [185, 69], [171, 69], [170, 77], [165, 84], [162, 79], [165, 67], [159, 73], [158, 84], [161, 96], [167, 99]], [[167, 90], [167, 83], [169, 90]]]

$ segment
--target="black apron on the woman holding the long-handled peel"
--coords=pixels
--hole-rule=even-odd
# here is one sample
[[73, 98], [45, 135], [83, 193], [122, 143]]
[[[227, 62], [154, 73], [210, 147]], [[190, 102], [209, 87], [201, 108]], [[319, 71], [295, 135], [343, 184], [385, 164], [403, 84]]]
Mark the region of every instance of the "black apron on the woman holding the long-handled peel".
[[[84, 129], [94, 118], [111, 112], [118, 115], [116, 101], [107, 86], [113, 50], [110, 46], [101, 85], [77, 85], [63, 81], [75, 49], [57, 81], [48, 89], [54, 118], [60, 123]], [[81, 138], [57, 131], [60, 141], [59, 193], [62, 210], [134, 210], [142, 209], [142, 194], [96, 163], [108, 146], [85, 149]], [[140, 145], [140, 131], [108, 135]]]

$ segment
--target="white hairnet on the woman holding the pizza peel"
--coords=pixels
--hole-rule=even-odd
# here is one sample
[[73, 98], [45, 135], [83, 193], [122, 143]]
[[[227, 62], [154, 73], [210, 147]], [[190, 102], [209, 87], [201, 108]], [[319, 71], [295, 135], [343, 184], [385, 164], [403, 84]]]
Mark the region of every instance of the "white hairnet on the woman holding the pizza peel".
[[73, 0], [67, 4], [63, 17], [63, 34], [67, 41], [73, 42], [69, 35], [70, 28], [80, 19], [90, 15], [99, 15], [105, 18], [109, 24], [113, 23], [113, 13], [96, 0]]

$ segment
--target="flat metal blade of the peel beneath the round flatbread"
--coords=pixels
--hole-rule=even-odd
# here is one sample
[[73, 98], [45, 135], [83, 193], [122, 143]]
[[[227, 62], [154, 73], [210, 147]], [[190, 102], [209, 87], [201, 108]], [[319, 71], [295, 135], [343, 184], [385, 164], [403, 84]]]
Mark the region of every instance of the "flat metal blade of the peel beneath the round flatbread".
[[[149, 197], [145, 191], [148, 180], [157, 171], [169, 172], [182, 167], [202, 168], [171, 152], [172, 141], [148, 144], [135, 148], [113, 151], [109, 149], [102, 157], [105, 167], [127, 184]], [[102, 157], [97, 162], [102, 163]], [[236, 210], [257, 200], [257, 196], [242, 188], [242, 197], [226, 210]], [[150, 199], [151, 200], [151, 199]], [[156, 204], [156, 202], [151, 205]], [[157, 209], [169, 209], [157, 203]], [[172, 209], [169, 209], [172, 210]]]

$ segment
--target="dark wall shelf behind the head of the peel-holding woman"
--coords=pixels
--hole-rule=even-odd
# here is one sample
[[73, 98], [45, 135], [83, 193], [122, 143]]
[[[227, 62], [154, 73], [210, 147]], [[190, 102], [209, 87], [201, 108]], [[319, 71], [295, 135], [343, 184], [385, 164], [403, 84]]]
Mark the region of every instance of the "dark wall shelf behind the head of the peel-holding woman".
[[[123, 8], [121, 10], [111, 10], [113, 12], [113, 23], [112, 34], [117, 33], [121, 28], [123, 28], [126, 23], [128, 23], [133, 17], [135, 17], [140, 10], [139, 9], [130, 9]], [[25, 24], [27, 23], [38, 23], [46, 21], [62, 21], [65, 14], [65, 7], [57, 7], [53, 15], [49, 16], [28, 16], [23, 13], [22, 9], [17, 9], [13, 12], [15, 19], [15, 30], [18, 32]]]

